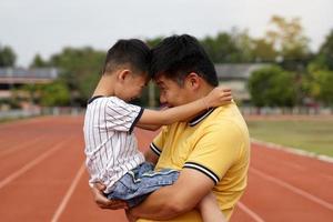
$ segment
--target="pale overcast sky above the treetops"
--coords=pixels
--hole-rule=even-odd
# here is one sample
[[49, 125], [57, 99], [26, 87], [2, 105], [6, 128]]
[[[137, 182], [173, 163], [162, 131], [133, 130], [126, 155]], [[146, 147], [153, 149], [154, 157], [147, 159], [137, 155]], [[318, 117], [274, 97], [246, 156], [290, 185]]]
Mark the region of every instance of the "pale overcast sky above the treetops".
[[189, 33], [214, 37], [233, 27], [263, 37], [273, 14], [301, 18], [316, 51], [333, 29], [332, 0], [0, 0], [0, 44], [28, 67], [64, 47], [108, 50], [118, 39]]

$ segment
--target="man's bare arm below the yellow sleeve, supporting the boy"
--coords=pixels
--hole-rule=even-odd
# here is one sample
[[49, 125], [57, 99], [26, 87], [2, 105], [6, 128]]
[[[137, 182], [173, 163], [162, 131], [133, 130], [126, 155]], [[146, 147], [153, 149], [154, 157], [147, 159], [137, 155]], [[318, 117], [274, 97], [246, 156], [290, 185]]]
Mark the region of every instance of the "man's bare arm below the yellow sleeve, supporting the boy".
[[182, 169], [173, 185], [153, 192], [130, 213], [135, 218], [169, 220], [192, 210], [213, 186], [214, 182], [205, 174]]

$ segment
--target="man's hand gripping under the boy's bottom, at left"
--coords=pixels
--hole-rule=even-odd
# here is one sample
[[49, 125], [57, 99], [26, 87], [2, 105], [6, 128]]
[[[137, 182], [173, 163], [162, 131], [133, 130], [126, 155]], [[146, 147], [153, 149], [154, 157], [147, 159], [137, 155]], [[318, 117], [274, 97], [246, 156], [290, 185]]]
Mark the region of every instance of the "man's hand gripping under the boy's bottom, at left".
[[111, 210], [119, 210], [119, 209], [128, 209], [128, 204], [121, 200], [109, 200], [105, 198], [103, 190], [105, 190], [105, 185], [102, 183], [93, 183], [91, 188], [92, 195], [94, 198], [94, 202], [101, 209], [111, 209]]

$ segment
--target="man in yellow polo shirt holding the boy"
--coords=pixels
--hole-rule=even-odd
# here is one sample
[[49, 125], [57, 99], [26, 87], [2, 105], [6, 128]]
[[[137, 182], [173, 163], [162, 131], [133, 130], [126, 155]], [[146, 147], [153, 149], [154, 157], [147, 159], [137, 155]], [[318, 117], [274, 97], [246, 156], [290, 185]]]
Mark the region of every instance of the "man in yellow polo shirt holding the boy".
[[[216, 72], [206, 52], [191, 36], [173, 36], [152, 50], [152, 73], [161, 103], [178, 107], [206, 95], [218, 85]], [[139, 206], [128, 211], [139, 221], [194, 222], [201, 216], [195, 205], [211, 191], [223, 214], [231, 213], [246, 186], [250, 139], [246, 124], [232, 102], [209, 109], [188, 122], [164, 127], [145, 153], [155, 170], [180, 170], [174, 184], [159, 189]], [[94, 190], [102, 208], [108, 202]]]

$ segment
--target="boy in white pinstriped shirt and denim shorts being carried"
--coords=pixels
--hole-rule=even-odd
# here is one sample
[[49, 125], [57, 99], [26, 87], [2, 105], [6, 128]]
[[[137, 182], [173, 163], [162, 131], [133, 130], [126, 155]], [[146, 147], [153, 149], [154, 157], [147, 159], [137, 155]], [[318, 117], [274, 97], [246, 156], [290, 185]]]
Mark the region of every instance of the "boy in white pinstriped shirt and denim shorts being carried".
[[[108, 51], [103, 74], [88, 102], [84, 118], [90, 183], [103, 183], [109, 199], [124, 200], [130, 208], [157, 189], [172, 184], [179, 175], [178, 171], [168, 169], [154, 172], [153, 164], [144, 162], [132, 134], [133, 128], [159, 129], [231, 101], [230, 90], [215, 88], [200, 100], [164, 111], [143, 110], [127, 103], [139, 97], [149, 81], [150, 58], [150, 49], [142, 41], [118, 41]], [[204, 198], [198, 208], [208, 209], [209, 204], [211, 209], [212, 201], [211, 196]], [[214, 215], [202, 212], [202, 215], [205, 221], [221, 221], [223, 215], [219, 212]]]

